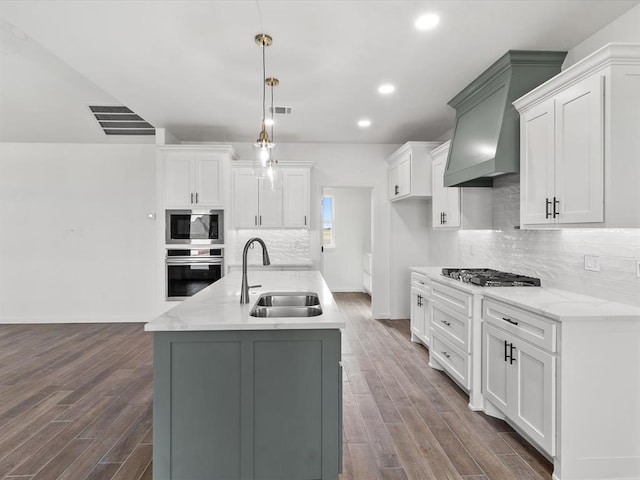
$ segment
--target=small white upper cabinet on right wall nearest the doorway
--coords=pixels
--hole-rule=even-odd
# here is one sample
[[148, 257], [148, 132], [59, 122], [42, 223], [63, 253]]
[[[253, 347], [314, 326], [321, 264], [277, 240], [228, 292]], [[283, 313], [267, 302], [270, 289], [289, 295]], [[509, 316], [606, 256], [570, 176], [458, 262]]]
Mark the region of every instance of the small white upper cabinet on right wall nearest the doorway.
[[430, 197], [431, 157], [436, 142], [407, 142], [387, 159], [389, 200]]

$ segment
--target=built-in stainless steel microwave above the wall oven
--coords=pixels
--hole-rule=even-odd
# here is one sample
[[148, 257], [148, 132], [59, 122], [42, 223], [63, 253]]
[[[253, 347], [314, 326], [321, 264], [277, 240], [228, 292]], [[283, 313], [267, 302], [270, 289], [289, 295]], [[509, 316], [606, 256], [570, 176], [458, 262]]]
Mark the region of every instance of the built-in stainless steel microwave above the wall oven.
[[224, 243], [222, 210], [167, 210], [167, 244], [215, 245]]

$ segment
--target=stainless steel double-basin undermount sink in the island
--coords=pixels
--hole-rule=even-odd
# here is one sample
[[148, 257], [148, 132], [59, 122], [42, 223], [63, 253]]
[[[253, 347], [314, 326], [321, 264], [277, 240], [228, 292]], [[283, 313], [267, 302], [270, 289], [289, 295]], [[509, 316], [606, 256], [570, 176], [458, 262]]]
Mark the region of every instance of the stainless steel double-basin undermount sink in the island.
[[317, 317], [322, 315], [318, 294], [314, 292], [263, 293], [253, 306], [252, 317]]

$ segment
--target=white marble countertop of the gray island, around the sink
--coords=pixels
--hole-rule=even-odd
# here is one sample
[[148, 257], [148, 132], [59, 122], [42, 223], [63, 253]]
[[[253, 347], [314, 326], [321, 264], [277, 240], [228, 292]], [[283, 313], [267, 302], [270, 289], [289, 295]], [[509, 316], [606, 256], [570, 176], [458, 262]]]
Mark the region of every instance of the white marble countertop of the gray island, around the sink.
[[[249, 290], [249, 303], [240, 304], [242, 274], [230, 273], [147, 323], [144, 329], [148, 332], [174, 332], [333, 329], [346, 326], [345, 317], [320, 272], [253, 270], [248, 276], [249, 285], [262, 285]], [[322, 315], [309, 318], [250, 316], [249, 311], [258, 297], [267, 292], [315, 292], [320, 299]]]

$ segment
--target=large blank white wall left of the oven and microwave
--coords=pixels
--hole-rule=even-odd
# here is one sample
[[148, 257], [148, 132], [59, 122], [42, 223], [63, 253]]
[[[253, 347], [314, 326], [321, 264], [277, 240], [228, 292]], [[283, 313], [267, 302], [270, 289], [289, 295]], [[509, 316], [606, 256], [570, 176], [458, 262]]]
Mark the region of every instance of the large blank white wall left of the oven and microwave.
[[0, 144], [0, 323], [156, 314], [155, 146]]

